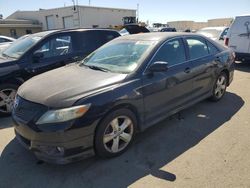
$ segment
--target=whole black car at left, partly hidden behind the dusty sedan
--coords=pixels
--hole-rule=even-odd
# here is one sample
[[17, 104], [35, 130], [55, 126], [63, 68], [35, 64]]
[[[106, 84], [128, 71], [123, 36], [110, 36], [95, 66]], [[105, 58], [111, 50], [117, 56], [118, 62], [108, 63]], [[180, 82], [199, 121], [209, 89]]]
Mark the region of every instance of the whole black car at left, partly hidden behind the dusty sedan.
[[119, 36], [108, 29], [65, 29], [16, 40], [0, 53], [0, 117], [11, 114], [17, 88], [25, 80], [82, 60]]

